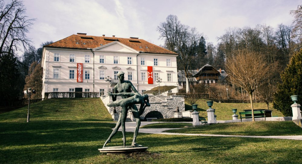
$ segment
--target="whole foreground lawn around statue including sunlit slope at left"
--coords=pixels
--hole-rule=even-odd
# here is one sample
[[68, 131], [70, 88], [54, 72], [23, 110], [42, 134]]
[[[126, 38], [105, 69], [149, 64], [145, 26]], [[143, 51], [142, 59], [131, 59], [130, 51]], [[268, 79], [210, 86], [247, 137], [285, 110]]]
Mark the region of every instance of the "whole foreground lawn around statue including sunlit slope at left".
[[[302, 163], [302, 141], [139, 134], [146, 153], [101, 154], [115, 125], [100, 99], [50, 99], [0, 114], [1, 164]], [[133, 133], [126, 133], [127, 145]], [[118, 132], [108, 146], [122, 145]]]

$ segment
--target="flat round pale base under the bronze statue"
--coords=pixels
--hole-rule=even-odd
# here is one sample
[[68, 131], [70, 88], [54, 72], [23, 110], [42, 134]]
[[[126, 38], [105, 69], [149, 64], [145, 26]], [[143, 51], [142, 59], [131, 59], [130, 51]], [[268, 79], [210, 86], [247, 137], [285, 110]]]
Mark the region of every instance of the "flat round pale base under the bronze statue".
[[101, 153], [114, 154], [114, 153], [133, 153], [146, 151], [148, 147], [144, 146], [110, 146], [98, 149]]

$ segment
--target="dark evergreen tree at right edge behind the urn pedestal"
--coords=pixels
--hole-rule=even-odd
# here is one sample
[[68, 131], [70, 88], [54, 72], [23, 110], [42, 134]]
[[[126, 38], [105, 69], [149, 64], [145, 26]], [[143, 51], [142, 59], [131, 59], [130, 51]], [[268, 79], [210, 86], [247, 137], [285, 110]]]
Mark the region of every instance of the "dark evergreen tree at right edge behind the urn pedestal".
[[[274, 96], [274, 108], [283, 113], [284, 116], [292, 116], [291, 95], [302, 95], [302, 49], [296, 52], [290, 63], [281, 74], [282, 83], [278, 85]], [[298, 103], [301, 104], [301, 96]]]

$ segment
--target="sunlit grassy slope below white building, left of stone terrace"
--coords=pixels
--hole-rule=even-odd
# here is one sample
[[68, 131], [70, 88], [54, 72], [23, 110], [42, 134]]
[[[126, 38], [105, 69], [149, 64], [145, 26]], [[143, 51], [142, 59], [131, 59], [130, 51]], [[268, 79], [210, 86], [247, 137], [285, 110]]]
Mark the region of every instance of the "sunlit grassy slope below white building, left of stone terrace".
[[[0, 114], [2, 122], [27, 120], [27, 106]], [[99, 98], [51, 98], [30, 105], [30, 121], [111, 121], [112, 117]]]

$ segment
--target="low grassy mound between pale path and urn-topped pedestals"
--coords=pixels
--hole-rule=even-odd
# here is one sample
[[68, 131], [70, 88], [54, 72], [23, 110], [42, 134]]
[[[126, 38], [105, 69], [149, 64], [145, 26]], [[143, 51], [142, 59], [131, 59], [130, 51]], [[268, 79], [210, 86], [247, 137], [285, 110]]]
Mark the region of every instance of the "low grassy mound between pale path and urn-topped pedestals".
[[194, 128], [168, 130], [172, 133], [214, 135], [302, 135], [302, 128], [292, 121], [256, 121], [212, 124]]

